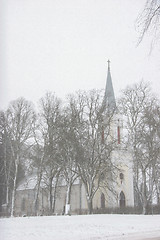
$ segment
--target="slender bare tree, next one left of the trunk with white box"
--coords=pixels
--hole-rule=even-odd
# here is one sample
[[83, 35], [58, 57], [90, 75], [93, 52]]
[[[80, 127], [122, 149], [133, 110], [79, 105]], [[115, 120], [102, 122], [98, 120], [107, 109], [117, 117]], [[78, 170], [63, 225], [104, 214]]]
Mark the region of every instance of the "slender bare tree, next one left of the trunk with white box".
[[54, 94], [46, 93], [46, 95], [40, 99], [39, 117], [39, 129], [44, 141], [43, 178], [49, 189], [50, 213], [53, 213], [56, 200], [56, 188], [61, 171], [58, 145], [61, 121], [61, 101]]

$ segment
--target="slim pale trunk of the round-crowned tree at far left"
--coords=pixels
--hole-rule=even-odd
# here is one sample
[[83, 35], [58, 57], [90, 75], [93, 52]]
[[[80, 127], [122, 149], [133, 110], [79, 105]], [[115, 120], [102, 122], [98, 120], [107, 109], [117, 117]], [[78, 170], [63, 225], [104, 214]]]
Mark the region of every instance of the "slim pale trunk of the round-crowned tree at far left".
[[11, 217], [14, 217], [14, 212], [15, 212], [18, 165], [19, 165], [19, 159], [17, 158], [15, 161], [15, 175], [14, 175], [14, 181], [13, 181], [13, 192], [12, 192], [12, 202], [11, 202]]

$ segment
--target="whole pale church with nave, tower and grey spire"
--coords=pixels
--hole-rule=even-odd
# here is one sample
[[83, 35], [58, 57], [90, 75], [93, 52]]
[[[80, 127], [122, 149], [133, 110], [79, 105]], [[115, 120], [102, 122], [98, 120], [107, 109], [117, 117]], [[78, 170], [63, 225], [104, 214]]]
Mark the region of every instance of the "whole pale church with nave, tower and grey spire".
[[[110, 61], [108, 61], [108, 73], [104, 95], [104, 102], [108, 104], [109, 108], [116, 108], [116, 100], [112, 84], [112, 77], [110, 71]], [[132, 170], [132, 155], [129, 150], [123, 147], [121, 141], [123, 134], [123, 118], [118, 113], [114, 113], [114, 123], [112, 126], [113, 134], [117, 136], [117, 145], [112, 154], [112, 161], [117, 166], [117, 174], [115, 181], [112, 184], [113, 191], [99, 188], [93, 198], [93, 212], [103, 212], [104, 209], [134, 207], [134, 188], [133, 188], [133, 170]], [[17, 187], [15, 215], [35, 215], [34, 198], [37, 185], [37, 176], [32, 174], [27, 179], [22, 181]], [[64, 179], [58, 184], [57, 195], [55, 201], [55, 214], [83, 214], [87, 213], [87, 198], [85, 186], [80, 178], [77, 178], [72, 185], [71, 199], [69, 206], [66, 205], [67, 186]], [[48, 193], [45, 189], [43, 181], [40, 185], [38, 203], [36, 214], [47, 215], [49, 212]]]

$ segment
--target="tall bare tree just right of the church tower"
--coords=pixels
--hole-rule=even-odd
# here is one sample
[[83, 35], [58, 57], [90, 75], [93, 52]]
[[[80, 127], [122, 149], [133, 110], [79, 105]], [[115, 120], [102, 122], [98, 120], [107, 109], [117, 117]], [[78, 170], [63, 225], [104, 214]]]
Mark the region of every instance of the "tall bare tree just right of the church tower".
[[[147, 212], [152, 201], [154, 177], [159, 156], [158, 119], [155, 109], [157, 100], [152, 97], [149, 86], [140, 82], [123, 91], [121, 98], [122, 113], [126, 116], [128, 135], [126, 143], [132, 146], [134, 158], [135, 195]], [[139, 203], [136, 202], [138, 205]]]

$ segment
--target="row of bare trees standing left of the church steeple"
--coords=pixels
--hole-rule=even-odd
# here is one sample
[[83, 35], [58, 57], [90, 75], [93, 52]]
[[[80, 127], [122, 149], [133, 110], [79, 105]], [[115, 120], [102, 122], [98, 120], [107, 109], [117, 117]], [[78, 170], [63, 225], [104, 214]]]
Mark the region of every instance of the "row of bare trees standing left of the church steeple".
[[[45, 178], [50, 212], [54, 212], [56, 188], [63, 176], [67, 184], [66, 211], [69, 212], [71, 187], [80, 178], [86, 189], [89, 213], [92, 212], [101, 176], [111, 172], [114, 146], [113, 141], [107, 141], [112, 116], [108, 115], [103, 122], [107, 109], [102, 103], [98, 91], [69, 96], [65, 106], [54, 94], [46, 93], [40, 99], [38, 114], [23, 98], [11, 102], [7, 111], [1, 112], [1, 189], [11, 216], [15, 211], [16, 188], [23, 177], [20, 175], [33, 168], [37, 175], [35, 211]], [[102, 127], [106, 129], [103, 143]]]

